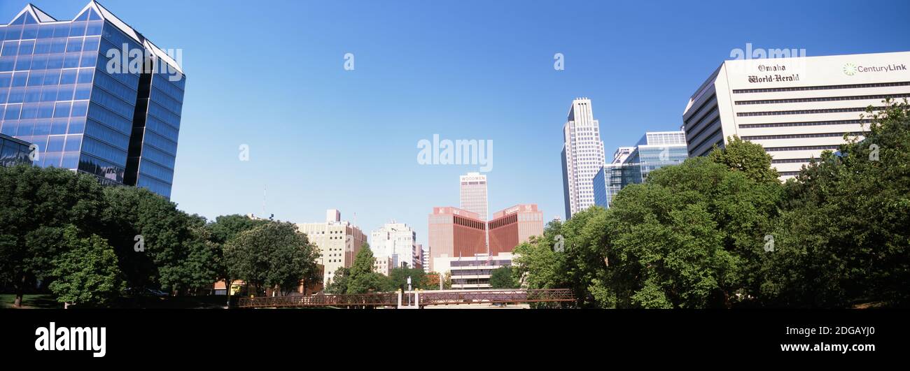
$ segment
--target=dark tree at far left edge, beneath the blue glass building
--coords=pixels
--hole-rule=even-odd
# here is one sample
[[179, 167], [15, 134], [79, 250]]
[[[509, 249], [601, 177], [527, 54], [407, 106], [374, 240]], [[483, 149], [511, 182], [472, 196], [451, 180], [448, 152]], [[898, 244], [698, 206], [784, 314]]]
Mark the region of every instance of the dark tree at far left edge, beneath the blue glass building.
[[15, 306], [22, 306], [26, 286], [50, 273], [64, 227], [98, 233], [104, 206], [102, 187], [92, 175], [0, 167], [0, 281], [13, 284]]

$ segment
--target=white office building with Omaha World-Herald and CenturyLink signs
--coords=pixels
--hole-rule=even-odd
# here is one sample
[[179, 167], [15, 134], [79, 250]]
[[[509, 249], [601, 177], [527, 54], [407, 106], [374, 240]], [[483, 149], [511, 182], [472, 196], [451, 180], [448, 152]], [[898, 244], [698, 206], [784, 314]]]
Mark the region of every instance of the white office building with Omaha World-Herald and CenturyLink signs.
[[689, 156], [728, 138], [763, 145], [781, 179], [810, 158], [862, 138], [867, 106], [910, 96], [910, 52], [725, 61], [682, 114]]

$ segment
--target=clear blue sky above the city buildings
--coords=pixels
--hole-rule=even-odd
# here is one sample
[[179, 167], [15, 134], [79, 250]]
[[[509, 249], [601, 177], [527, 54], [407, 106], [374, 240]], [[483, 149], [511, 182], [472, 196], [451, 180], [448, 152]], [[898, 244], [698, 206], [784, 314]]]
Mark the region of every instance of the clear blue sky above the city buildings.
[[[34, 0], [68, 19], [85, 0]], [[493, 140], [490, 213], [536, 203], [563, 216], [561, 127], [592, 99], [607, 154], [678, 129], [713, 69], [746, 43], [807, 55], [910, 50], [910, 2], [101, 2], [163, 48], [182, 48], [187, 95], [172, 200], [209, 218], [321, 221], [369, 234], [390, 219], [427, 241], [460, 174], [418, 165], [433, 134]], [[24, 1], [0, 1], [8, 22]], [[345, 71], [343, 55], [355, 55]], [[565, 70], [553, 55], [565, 55]], [[250, 161], [238, 160], [248, 144]], [[563, 216], [564, 217], [564, 216]]]

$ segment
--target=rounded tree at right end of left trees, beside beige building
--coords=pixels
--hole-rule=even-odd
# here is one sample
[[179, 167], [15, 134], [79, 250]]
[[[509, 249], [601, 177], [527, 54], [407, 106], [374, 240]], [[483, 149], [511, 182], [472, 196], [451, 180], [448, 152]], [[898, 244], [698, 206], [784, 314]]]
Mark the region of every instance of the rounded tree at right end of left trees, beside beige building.
[[269, 222], [243, 231], [227, 242], [224, 254], [229, 276], [256, 287], [257, 293], [268, 286], [287, 294], [318, 269], [316, 248], [290, 223]]

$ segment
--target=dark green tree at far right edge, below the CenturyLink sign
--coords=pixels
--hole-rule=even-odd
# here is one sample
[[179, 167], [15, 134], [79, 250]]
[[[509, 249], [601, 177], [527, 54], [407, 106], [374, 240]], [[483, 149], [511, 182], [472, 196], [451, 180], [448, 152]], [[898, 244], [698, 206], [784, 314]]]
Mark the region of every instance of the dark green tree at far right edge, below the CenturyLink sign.
[[845, 136], [786, 185], [775, 250], [763, 266], [770, 306], [910, 305], [910, 117], [885, 101], [863, 140]]

